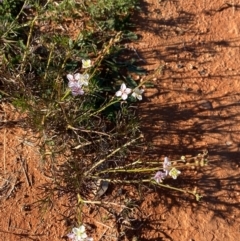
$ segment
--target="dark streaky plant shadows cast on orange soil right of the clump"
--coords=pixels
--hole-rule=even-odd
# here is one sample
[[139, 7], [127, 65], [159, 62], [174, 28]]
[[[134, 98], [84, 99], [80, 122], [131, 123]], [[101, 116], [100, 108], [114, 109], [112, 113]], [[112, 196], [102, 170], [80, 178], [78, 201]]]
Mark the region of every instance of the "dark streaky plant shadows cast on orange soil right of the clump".
[[[171, 1], [171, 4], [178, 3]], [[240, 38], [209, 40], [210, 30], [200, 32], [195, 14], [180, 7], [177, 16], [168, 19], [161, 16], [161, 8], [150, 12], [151, 6], [145, 1], [141, 1], [141, 7], [142, 13], [135, 20], [136, 29], [145, 35], [154, 34], [159, 42], [151, 48], [151, 45], [139, 47], [139, 55], [151, 60], [147, 66], [154, 61], [163, 63], [162, 74], [154, 81], [154, 88], [146, 89], [144, 103], [139, 108], [142, 131], [149, 142], [145, 156], [163, 161], [164, 156], [174, 160], [182, 155], [195, 156], [203, 149], [209, 152], [207, 167], [187, 171], [177, 182], [167, 180], [178, 188], [192, 190], [196, 186], [203, 196], [200, 202], [163, 189], [156, 191], [157, 200], [161, 199], [169, 212], [174, 207], [190, 206], [202, 213], [211, 211], [215, 217], [231, 222], [232, 215], [240, 209], [240, 94], [237, 92], [240, 72], [214, 72], [211, 67], [213, 61], [220, 61], [223, 51], [235, 52], [240, 47]], [[202, 13], [214, 17], [233, 7], [235, 11], [240, 9], [239, 5], [226, 3], [216, 9], [203, 9]], [[236, 84], [236, 88], [223, 91], [224, 83]], [[153, 229], [153, 223], [145, 220], [143, 226]]]

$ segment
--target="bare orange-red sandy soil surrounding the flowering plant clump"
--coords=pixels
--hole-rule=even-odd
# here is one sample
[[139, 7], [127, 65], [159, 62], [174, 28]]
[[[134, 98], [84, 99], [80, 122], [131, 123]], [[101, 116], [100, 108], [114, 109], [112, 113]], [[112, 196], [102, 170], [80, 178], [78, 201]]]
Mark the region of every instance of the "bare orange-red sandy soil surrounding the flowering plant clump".
[[[197, 187], [204, 196], [200, 202], [149, 189], [139, 210], [132, 210], [134, 222], [122, 239], [239, 240], [240, 2], [148, 0], [141, 5], [136, 21], [141, 38], [131, 47], [148, 70], [162, 66], [139, 107], [151, 143], [145, 157], [162, 160], [208, 149], [209, 165], [173, 182]], [[10, 105], [2, 103], [0, 114], [0, 181], [8, 180], [0, 189], [0, 240], [67, 240], [68, 200], [60, 195], [52, 209], [37, 208], [43, 197], [39, 187], [50, 180], [41, 171], [35, 134]], [[124, 195], [134, 196], [130, 189]], [[111, 217], [93, 214], [87, 217], [89, 236], [117, 240], [121, 230], [114, 231]]]

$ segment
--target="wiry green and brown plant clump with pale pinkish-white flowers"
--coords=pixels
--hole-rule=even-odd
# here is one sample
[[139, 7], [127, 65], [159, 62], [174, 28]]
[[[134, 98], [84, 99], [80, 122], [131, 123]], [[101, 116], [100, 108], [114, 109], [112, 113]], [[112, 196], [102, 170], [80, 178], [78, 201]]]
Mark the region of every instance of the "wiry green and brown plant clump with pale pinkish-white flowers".
[[[144, 144], [135, 111], [142, 86], [161, 69], [143, 77], [139, 56], [125, 47], [137, 39], [129, 20], [138, 9], [137, 0], [0, 2], [0, 98], [25, 111], [40, 133], [42, 160], [53, 177], [47, 195], [61, 190], [76, 205], [104, 205], [110, 184], [148, 184], [200, 198], [165, 179], [204, 166], [206, 153], [172, 163], [128, 158]], [[60, 161], [59, 153], [67, 157]], [[69, 238], [91, 240], [77, 219]]]

